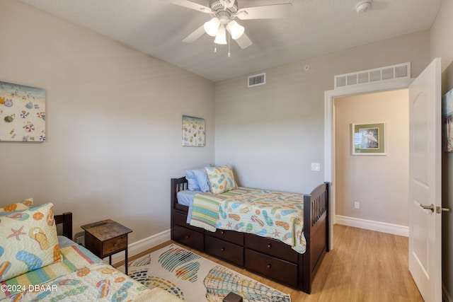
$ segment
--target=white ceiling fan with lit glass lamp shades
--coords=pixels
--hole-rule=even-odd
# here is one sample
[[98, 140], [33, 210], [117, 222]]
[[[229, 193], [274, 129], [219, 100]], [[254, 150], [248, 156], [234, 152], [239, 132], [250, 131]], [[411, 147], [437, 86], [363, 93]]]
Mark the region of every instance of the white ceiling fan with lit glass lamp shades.
[[292, 6], [290, 3], [285, 3], [238, 8], [237, 0], [210, 0], [209, 7], [207, 7], [189, 0], [166, 1], [202, 13], [209, 13], [212, 17], [210, 21], [207, 21], [200, 28], [185, 37], [183, 42], [192, 43], [207, 33], [215, 37], [215, 44], [226, 45], [226, 32], [228, 32], [231, 38], [236, 40], [242, 49], [251, 46], [253, 42], [244, 33], [245, 29], [243, 26], [234, 20], [235, 18], [241, 20], [286, 18], [289, 16]]

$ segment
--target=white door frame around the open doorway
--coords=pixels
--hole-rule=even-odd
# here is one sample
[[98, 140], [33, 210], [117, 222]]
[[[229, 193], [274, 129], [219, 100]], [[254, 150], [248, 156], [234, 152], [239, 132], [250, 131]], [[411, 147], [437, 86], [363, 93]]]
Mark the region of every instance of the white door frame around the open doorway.
[[336, 187], [335, 187], [335, 98], [384, 91], [407, 89], [413, 79], [392, 79], [378, 83], [360, 84], [336, 90], [324, 91], [324, 179], [331, 183], [329, 196], [329, 248], [333, 249], [333, 225], [336, 223]]

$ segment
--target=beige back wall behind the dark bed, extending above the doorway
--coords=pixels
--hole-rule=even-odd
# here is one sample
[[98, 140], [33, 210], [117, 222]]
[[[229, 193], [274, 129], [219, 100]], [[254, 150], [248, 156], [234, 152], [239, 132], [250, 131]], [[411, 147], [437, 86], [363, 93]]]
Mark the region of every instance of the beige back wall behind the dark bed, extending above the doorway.
[[324, 91], [333, 76], [404, 62], [413, 77], [428, 66], [429, 31], [267, 69], [266, 85], [255, 88], [247, 76], [217, 82], [216, 163], [233, 164], [241, 185], [310, 192], [324, 180]]

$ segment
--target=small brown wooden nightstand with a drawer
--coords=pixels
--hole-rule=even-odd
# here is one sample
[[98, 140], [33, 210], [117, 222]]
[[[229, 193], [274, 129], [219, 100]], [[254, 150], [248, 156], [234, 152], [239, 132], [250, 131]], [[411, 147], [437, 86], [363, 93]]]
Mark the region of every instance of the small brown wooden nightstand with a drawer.
[[130, 228], [111, 219], [81, 226], [85, 230], [85, 248], [101, 259], [108, 256], [112, 265], [112, 255], [125, 251], [125, 272], [127, 274], [127, 234]]

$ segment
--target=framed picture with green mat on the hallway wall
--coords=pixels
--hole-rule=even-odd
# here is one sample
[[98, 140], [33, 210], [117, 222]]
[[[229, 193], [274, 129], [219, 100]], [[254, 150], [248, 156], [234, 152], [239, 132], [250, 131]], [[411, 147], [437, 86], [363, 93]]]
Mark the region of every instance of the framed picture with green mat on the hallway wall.
[[352, 155], [385, 155], [385, 123], [352, 124]]

